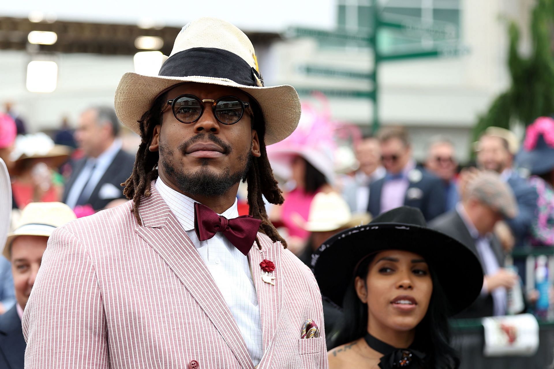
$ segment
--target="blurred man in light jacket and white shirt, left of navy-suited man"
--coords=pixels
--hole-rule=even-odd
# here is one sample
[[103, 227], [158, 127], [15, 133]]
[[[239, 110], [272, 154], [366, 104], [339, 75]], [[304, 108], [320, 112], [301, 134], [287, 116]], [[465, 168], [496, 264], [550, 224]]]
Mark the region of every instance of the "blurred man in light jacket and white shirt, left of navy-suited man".
[[366, 212], [370, 198], [370, 184], [383, 178], [386, 170], [381, 165], [381, 146], [377, 137], [366, 137], [356, 145], [356, 159], [360, 169], [354, 180], [342, 190], [342, 197], [352, 212]]

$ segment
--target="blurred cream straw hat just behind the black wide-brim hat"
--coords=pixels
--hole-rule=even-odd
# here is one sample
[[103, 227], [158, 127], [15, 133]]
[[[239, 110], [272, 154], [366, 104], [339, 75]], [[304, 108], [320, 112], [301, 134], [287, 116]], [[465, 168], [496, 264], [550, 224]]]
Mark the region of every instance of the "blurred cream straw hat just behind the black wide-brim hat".
[[367, 213], [352, 214], [345, 200], [336, 192], [317, 193], [310, 205], [308, 221], [302, 228], [309, 232], [328, 232], [366, 224]]

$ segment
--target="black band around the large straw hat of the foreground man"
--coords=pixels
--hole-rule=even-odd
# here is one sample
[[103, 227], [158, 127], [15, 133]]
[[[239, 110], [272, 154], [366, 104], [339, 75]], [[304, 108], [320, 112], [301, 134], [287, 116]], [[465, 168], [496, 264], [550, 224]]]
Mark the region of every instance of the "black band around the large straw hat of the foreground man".
[[163, 63], [160, 76], [224, 78], [244, 86], [263, 87], [258, 71], [237, 54], [217, 48], [192, 48], [173, 54]]

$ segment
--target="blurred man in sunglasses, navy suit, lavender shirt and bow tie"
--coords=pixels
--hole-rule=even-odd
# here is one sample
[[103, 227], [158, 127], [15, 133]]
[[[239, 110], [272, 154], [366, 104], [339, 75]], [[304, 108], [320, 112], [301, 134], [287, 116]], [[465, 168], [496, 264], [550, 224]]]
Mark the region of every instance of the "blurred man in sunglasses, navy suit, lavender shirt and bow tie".
[[443, 214], [445, 195], [442, 181], [417, 167], [407, 132], [399, 127], [385, 127], [378, 138], [387, 174], [370, 185], [367, 207], [370, 214], [377, 216], [402, 205], [417, 207], [427, 221]]

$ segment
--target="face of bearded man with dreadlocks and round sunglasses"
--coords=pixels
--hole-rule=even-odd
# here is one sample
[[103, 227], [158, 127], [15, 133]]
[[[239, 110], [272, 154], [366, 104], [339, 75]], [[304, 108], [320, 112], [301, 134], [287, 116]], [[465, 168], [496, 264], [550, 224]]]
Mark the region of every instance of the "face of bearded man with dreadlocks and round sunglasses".
[[[200, 100], [235, 96], [250, 98], [232, 87], [208, 84], [183, 84], [167, 92], [167, 100], [188, 93]], [[222, 195], [236, 186], [248, 171], [252, 157], [260, 156], [258, 134], [252, 116], [244, 111], [237, 123], [226, 125], [214, 117], [209, 102], [194, 123], [182, 123], [171, 107], [155, 127], [151, 151], [160, 153], [160, 177], [173, 188], [191, 195]]]

